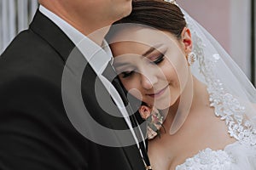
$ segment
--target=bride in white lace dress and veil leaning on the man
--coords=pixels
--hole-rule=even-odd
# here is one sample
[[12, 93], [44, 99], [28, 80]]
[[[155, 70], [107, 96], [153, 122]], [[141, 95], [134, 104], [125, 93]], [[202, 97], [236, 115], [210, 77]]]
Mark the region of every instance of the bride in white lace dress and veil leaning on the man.
[[136, 0], [107, 39], [124, 88], [143, 101], [154, 170], [256, 169], [256, 91], [189, 14]]

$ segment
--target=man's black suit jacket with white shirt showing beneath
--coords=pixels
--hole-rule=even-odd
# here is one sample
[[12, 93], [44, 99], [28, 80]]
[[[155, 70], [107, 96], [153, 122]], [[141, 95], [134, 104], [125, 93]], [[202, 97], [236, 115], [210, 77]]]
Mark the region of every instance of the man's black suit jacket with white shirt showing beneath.
[[[61, 89], [61, 77], [67, 69], [70, 81], [77, 81], [84, 69], [80, 92], [85, 107], [96, 122], [105, 127], [127, 129], [123, 118], [109, 116], [98, 105], [95, 95], [96, 74], [85, 68], [66, 65], [69, 54], [76, 53], [79, 64], [86, 60], [73, 42], [37, 11], [29, 29], [22, 31], [0, 58], [0, 169], [3, 170], [102, 170], [144, 169], [137, 145], [108, 147], [84, 138], [68, 119], [63, 98], [69, 109], [77, 109], [76, 95]], [[86, 48], [86, 47], [84, 47]], [[98, 83], [102, 97], [109, 94]], [[62, 90], [62, 91], [61, 91]], [[64, 97], [63, 97], [63, 94]], [[73, 100], [74, 99], [74, 100]], [[106, 101], [108, 102], [108, 101]], [[118, 110], [116, 110], [118, 111]], [[97, 135], [90, 124], [82, 129]], [[87, 128], [87, 129], [86, 129]], [[83, 132], [82, 132], [83, 133]], [[116, 134], [105, 138], [119, 141]], [[132, 138], [132, 136], [127, 136]]]

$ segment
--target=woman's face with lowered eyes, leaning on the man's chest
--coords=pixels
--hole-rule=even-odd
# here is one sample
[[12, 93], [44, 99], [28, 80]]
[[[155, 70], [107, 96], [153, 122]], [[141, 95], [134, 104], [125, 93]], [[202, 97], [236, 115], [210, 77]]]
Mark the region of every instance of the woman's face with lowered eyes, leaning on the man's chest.
[[113, 65], [127, 91], [158, 109], [172, 106], [189, 76], [183, 42], [142, 27], [119, 31], [112, 40]]

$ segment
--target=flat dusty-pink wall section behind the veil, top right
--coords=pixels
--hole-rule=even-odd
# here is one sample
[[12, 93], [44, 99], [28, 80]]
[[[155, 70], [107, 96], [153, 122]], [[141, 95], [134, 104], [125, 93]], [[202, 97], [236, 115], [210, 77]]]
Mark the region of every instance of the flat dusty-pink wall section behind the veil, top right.
[[177, 0], [230, 54], [230, 0]]

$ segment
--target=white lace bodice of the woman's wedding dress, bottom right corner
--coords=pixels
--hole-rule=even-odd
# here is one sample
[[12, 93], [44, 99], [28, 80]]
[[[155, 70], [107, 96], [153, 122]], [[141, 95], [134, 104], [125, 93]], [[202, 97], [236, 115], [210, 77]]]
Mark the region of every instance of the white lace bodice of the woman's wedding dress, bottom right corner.
[[[234, 115], [230, 117], [234, 118]], [[227, 117], [227, 118], [230, 118]], [[229, 129], [234, 132], [229, 123]], [[225, 146], [224, 150], [206, 148], [193, 157], [178, 165], [176, 170], [256, 170], [256, 135], [247, 131], [246, 125], [236, 126], [243, 136], [233, 144]], [[255, 131], [255, 129], [254, 129]], [[231, 135], [232, 133], [230, 133]]]

